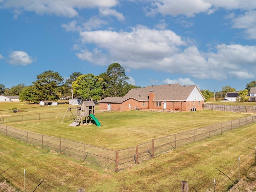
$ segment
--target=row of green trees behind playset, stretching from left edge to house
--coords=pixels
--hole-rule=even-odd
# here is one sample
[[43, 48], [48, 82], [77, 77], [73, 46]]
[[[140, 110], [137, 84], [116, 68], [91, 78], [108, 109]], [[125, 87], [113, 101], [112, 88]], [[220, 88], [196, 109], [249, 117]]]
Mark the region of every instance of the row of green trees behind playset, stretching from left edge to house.
[[131, 88], [140, 88], [128, 83], [124, 68], [113, 63], [106, 72], [95, 76], [73, 72], [64, 83], [58, 73], [48, 70], [37, 75], [32, 85], [18, 84], [10, 89], [0, 84], [0, 94], [19, 96], [20, 101], [38, 103], [42, 100], [59, 100], [73, 97], [82, 100], [100, 100], [108, 96], [124, 96]]

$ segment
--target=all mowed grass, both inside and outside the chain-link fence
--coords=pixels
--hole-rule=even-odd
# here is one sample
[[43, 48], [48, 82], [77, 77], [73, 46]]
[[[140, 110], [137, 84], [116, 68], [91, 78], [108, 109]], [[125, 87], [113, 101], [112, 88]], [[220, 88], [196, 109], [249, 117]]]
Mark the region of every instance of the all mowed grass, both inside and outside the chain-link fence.
[[[63, 110], [67, 106], [40, 107], [26, 109], [20, 114], [32, 114], [49, 110]], [[65, 110], [64, 110], [65, 111]], [[11, 111], [1, 112], [13, 115]], [[16, 115], [16, 114], [15, 114]], [[70, 127], [69, 120], [62, 118], [43, 119], [29, 122], [8, 123], [8, 126], [38, 132], [41, 134], [67, 138], [111, 149], [135, 146], [142, 142], [174, 134], [185, 130], [204, 127], [247, 116], [247, 114], [197, 111], [197, 112], [112, 112], [98, 113], [96, 118], [102, 124]], [[249, 148], [254, 148], [256, 124], [250, 124], [224, 134], [189, 144], [172, 152], [162, 154], [121, 172], [106, 172], [87, 162], [69, 158], [62, 154], [39, 149], [25, 143], [1, 136], [0, 159], [15, 164], [26, 172], [43, 178], [52, 186], [51, 191], [76, 191], [85, 188], [88, 192], [178, 192], [180, 181], [187, 180], [190, 186], [200, 188], [205, 179], [210, 182], [216, 167], [230, 165]], [[22, 176], [16, 176], [16, 180]], [[11, 179], [10, 179], [11, 180]], [[13, 181], [15, 183], [15, 181]], [[230, 183], [224, 186], [227, 191]]]

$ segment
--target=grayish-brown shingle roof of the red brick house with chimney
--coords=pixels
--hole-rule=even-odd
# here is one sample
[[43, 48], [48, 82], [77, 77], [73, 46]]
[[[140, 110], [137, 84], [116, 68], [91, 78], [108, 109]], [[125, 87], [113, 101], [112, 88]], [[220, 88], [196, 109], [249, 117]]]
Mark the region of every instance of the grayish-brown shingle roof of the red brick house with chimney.
[[146, 86], [131, 89], [124, 97], [107, 97], [99, 102], [121, 103], [129, 98], [148, 101], [148, 93], [152, 90], [155, 92], [155, 101], [186, 101], [195, 87], [196, 85], [181, 86], [180, 84]]

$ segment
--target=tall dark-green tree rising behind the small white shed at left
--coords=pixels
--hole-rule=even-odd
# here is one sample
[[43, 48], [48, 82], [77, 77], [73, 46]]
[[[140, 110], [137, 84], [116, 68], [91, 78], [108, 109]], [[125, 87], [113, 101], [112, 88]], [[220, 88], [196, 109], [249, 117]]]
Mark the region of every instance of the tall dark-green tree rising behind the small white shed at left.
[[58, 72], [45, 71], [32, 82], [38, 89], [40, 100], [58, 100], [58, 88], [63, 84], [63, 78]]

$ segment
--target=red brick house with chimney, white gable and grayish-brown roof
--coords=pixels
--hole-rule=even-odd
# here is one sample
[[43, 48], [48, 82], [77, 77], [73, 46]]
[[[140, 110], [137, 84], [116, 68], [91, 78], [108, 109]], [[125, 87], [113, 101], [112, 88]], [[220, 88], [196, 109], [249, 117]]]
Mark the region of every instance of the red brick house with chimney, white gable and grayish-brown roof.
[[99, 101], [101, 110], [202, 110], [204, 96], [196, 85], [152, 85], [131, 89], [124, 97], [107, 97]]

